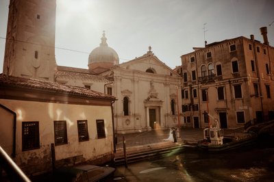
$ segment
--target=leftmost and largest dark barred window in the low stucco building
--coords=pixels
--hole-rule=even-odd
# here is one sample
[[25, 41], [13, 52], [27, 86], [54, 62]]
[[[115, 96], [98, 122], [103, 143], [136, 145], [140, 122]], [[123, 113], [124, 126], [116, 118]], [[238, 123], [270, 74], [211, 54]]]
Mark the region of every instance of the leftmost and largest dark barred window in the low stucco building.
[[39, 122], [22, 122], [22, 151], [40, 148]]

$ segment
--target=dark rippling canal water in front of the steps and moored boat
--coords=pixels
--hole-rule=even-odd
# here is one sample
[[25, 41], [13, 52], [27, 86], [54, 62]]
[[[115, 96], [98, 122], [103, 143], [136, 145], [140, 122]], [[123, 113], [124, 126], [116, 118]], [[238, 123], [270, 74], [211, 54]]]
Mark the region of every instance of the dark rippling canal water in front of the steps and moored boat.
[[110, 181], [274, 181], [274, 140], [226, 153], [183, 152], [119, 166]]

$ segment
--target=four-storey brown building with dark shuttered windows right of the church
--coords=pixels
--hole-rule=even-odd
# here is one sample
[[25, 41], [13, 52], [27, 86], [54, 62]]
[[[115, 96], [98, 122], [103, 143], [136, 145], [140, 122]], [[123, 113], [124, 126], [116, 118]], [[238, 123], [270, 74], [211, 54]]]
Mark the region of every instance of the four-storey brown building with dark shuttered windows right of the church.
[[[247, 122], [274, 119], [274, 48], [264, 42], [238, 37], [206, 44], [181, 56], [182, 112], [185, 125], [243, 127]], [[208, 115], [210, 117], [208, 117]]]

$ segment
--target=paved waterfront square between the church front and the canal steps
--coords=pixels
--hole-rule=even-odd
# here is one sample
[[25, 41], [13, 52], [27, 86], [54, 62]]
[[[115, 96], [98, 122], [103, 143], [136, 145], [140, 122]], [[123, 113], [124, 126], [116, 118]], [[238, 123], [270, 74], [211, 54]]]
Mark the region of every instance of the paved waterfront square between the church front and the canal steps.
[[[224, 135], [238, 135], [243, 129], [224, 129]], [[125, 146], [145, 146], [148, 144], [170, 143], [165, 141], [169, 138], [169, 129], [155, 129], [151, 131], [143, 131], [138, 133], [116, 134], [116, 148], [123, 148], [123, 136], [125, 138]], [[203, 140], [203, 129], [187, 129], [180, 131], [180, 137], [177, 138], [177, 144], [197, 144], [199, 140]]]

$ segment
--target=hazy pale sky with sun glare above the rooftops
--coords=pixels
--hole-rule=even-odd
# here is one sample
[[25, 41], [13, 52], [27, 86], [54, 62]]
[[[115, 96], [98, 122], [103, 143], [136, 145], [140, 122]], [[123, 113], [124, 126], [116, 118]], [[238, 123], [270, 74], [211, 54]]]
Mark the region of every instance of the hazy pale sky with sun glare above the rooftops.
[[[8, 5], [9, 0], [0, 0], [0, 73]], [[253, 34], [263, 42], [260, 27], [268, 28], [274, 46], [273, 22], [273, 0], [57, 0], [55, 59], [59, 66], [88, 68], [88, 55], [105, 31], [120, 63], [144, 55], [151, 46], [175, 68], [181, 55], [203, 47], [204, 40], [210, 44]]]

